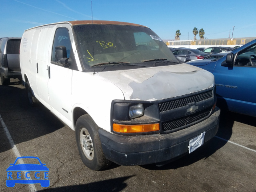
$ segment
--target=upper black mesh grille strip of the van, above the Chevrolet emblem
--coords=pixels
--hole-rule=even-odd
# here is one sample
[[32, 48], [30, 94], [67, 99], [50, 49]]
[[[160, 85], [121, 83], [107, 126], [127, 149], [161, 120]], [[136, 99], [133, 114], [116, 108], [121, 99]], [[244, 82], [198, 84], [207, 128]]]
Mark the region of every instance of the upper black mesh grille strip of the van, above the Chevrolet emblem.
[[190, 103], [200, 102], [212, 97], [213, 97], [213, 91], [209, 90], [193, 96], [188, 96], [188, 97], [184, 97], [176, 100], [162, 102], [162, 103], [159, 103], [158, 106], [159, 106], [160, 112], [164, 112], [164, 111], [184, 107]]

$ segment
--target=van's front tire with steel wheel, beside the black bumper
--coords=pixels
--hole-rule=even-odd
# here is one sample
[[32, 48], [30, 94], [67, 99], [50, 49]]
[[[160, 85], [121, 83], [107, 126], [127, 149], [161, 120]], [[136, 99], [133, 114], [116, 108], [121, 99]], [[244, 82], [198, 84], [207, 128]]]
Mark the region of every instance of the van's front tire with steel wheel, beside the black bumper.
[[76, 144], [82, 162], [91, 170], [99, 171], [110, 166], [106, 159], [98, 134], [98, 126], [85, 114], [76, 121]]

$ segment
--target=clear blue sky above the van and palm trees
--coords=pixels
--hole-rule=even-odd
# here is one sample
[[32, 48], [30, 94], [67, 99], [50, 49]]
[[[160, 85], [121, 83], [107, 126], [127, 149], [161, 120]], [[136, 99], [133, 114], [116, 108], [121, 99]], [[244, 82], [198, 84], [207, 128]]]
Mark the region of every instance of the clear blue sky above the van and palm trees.
[[[24, 30], [61, 21], [112, 20], [142, 24], [164, 40], [256, 37], [255, 0], [1, 0], [0, 37], [21, 37]], [[92, 8], [92, 9], [91, 9]], [[92, 10], [92, 14], [91, 14]], [[199, 36], [196, 36], [199, 39]]]

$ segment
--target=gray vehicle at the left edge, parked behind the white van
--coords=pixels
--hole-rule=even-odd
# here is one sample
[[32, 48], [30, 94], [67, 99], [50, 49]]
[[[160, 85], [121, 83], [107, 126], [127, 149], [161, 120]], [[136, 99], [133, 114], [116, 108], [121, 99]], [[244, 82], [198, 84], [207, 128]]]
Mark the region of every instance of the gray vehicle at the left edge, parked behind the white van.
[[10, 83], [10, 78], [22, 80], [20, 72], [21, 38], [2, 38], [0, 40], [0, 76], [2, 85]]

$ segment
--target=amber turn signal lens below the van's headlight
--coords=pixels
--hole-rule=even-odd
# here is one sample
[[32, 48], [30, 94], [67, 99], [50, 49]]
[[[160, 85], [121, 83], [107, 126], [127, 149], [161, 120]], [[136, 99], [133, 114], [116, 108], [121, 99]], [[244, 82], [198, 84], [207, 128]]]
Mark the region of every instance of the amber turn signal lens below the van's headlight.
[[159, 131], [159, 123], [156, 124], [143, 124], [143, 125], [121, 125], [113, 124], [113, 130], [120, 133], [139, 133], [139, 132], [150, 132]]

